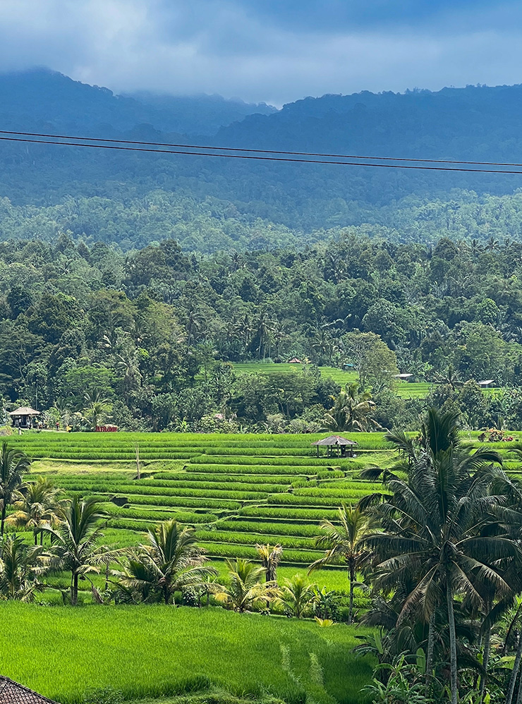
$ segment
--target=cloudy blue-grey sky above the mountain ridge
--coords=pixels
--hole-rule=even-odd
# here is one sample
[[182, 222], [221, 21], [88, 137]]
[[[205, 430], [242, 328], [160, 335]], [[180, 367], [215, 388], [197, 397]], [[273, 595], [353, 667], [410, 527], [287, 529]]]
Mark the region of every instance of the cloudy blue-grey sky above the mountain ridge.
[[0, 70], [115, 92], [307, 95], [522, 83], [522, 4], [482, 0], [0, 0]]

